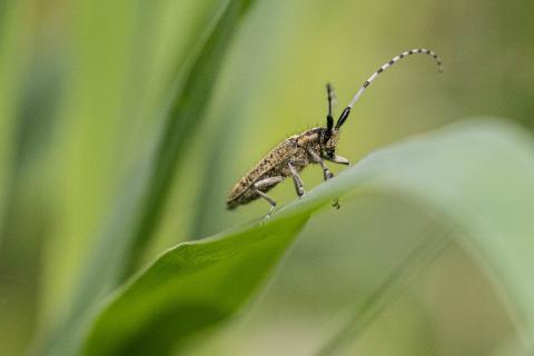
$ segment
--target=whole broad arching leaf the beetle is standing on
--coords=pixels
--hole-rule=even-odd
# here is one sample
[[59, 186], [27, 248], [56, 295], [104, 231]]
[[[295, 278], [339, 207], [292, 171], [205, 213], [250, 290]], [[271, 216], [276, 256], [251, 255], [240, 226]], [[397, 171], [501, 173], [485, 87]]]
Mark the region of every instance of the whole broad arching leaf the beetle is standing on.
[[455, 125], [383, 149], [280, 209], [268, 224], [164, 253], [102, 307], [85, 350], [185, 350], [196, 333], [227, 319], [249, 299], [310, 214], [336, 197], [355, 199], [368, 191], [400, 194], [458, 229], [455, 237], [488, 267], [518, 328], [532, 335], [533, 180], [532, 140], [494, 120]]

